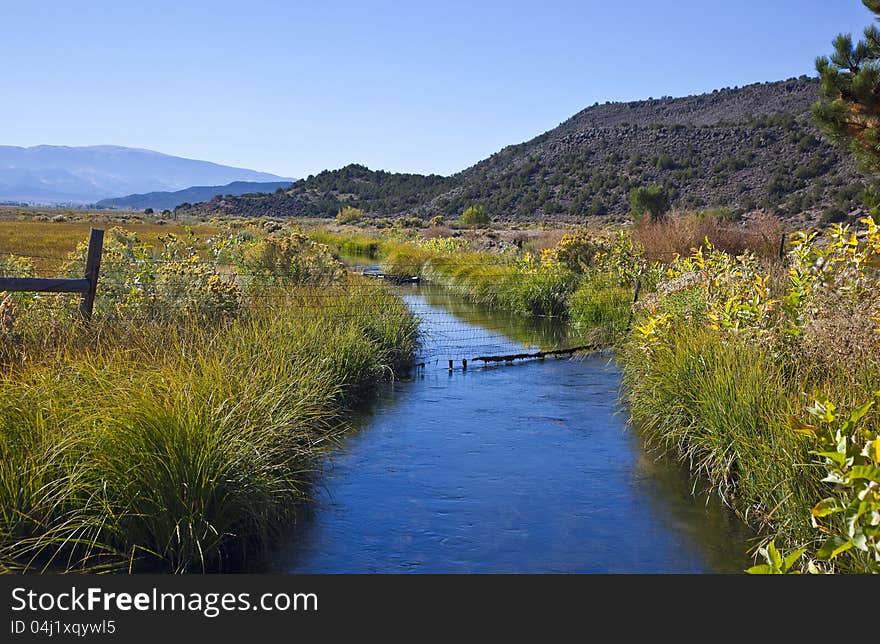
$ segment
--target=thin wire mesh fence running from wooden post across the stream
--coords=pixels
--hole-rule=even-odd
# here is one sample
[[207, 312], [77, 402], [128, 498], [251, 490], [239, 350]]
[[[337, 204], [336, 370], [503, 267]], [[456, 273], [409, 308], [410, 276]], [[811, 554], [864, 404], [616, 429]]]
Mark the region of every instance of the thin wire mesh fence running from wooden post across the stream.
[[[31, 267], [34, 277], [58, 277], [76, 270], [70, 257], [49, 254], [18, 256]], [[419, 322], [419, 349], [416, 363], [425, 368], [456, 368], [463, 360], [481, 356], [505, 356], [538, 351], [553, 351], [589, 344], [595, 329], [620, 326], [621, 313], [598, 312], [589, 324], [565, 320], [560, 316], [505, 310], [480, 303], [480, 297], [466, 297], [447, 288], [417, 281], [418, 267], [410, 275], [394, 280], [384, 276], [378, 264], [361, 264], [351, 273], [332, 280], [303, 280], [301, 276], [270, 275], [242, 266], [204, 257], [175, 259], [127, 258], [120, 268], [118, 259], [100, 276], [95, 298], [96, 316], [119, 322], [145, 322], [150, 318], [171, 319], [192, 314], [222, 317], [224, 307], [237, 315], [267, 313], [284, 308], [305, 321], [319, 317], [328, 323], [343, 323], [359, 318], [362, 308], [377, 297], [377, 287], [391, 290], [403, 299]], [[400, 268], [400, 267], [398, 267]], [[405, 267], [404, 267], [405, 268]], [[20, 269], [19, 265], [0, 264], [0, 276]], [[404, 273], [407, 271], [404, 270]], [[213, 280], [213, 281], [212, 281]], [[210, 285], [210, 286], [209, 286]], [[228, 292], [224, 290], [228, 287]], [[483, 288], [492, 297], [504, 299], [505, 290], [522, 289], [509, 278], [484, 280]], [[219, 295], [218, 295], [219, 294]], [[225, 296], [231, 297], [230, 303]], [[566, 294], [567, 295], [567, 294]], [[562, 296], [562, 295], [560, 295]], [[624, 294], [631, 300], [631, 294]], [[43, 320], [72, 319], [78, 297], [64, 293], [16, 294], [21, 310], [39, 313]], [[233, 306], [234, 304], [234, 306]], [[625, 313], [630, 310], [627, 303]], [[375, 316], [375, 311], [371, 314]], [[388, 309], [389, 316], [398, 311]], [[381, 316], [381, 312], [380, 312]], [[623, 317], [626, 317], [624, 315]], [[588, 333], [585, 327], [589, 327]], [[592, 333], [592, 335], [591, 335]], [[475, 365], [476, 366], [476, 365]]]

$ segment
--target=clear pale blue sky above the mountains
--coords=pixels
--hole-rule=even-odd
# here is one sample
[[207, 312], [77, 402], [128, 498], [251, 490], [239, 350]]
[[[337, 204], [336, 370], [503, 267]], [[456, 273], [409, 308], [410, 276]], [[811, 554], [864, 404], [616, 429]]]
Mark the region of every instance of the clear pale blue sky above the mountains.
[[462, 170], [596, 101], [813, 74], [859, 0], [0, 0], [0, 144]]

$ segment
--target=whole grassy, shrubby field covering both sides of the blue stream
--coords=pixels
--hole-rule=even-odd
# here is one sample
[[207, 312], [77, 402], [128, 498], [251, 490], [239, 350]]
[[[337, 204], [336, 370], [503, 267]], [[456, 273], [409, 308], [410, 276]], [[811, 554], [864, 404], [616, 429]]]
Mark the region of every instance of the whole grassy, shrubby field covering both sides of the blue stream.
[[[70, 249], [75, 274], [88, 225], [6, 222], [2, 239]], [[348, 411], [415, 349], [412, 314], [345, 254], [567, 320], [616, 351], [634, 428], [755, 529], [766, 566], [778, 546], [798, 570], [874, 571], [880, 228], [782, 235], [723, 212], [526, 231], [131, 222], [109, 234], [92, 326], [63, 298], [0, 303], [0, 560], [208, 570], [271, 543]]]

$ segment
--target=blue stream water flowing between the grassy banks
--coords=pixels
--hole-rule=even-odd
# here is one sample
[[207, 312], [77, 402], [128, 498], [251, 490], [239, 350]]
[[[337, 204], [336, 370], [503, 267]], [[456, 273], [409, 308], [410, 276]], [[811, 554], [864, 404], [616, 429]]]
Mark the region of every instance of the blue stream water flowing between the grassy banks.
[[[294, 573], [741, 571], [745, 531], [645, 453], [608, 356], [446, 369], [529, 346], [421, 294], [428, 357], [325, 464], [273, 568]], [[436, 298], [434, 298], [436, 301]], [[471, 316], [472, 318], [473, 316]], [[503, 325], [497, 325], [502, 326]], [[536, 339], [537, 346], [540, 338]]]

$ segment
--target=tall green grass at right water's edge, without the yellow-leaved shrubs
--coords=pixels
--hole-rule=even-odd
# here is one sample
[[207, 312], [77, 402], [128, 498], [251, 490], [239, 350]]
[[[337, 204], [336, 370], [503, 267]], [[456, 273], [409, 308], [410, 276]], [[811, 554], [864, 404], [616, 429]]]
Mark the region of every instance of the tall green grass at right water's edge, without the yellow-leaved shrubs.
[[820, 482], [810, 445], [788, 428], [803, 380], [765, 347], [718, 342], [680, 328], [646, 359], [622, 354], [633, 422], [649, 445], [686, 463], [703, 484], [758, 528], [811, 538]]

